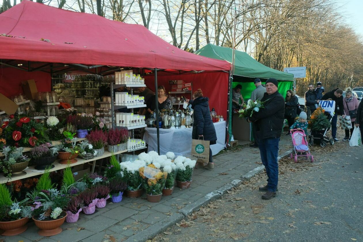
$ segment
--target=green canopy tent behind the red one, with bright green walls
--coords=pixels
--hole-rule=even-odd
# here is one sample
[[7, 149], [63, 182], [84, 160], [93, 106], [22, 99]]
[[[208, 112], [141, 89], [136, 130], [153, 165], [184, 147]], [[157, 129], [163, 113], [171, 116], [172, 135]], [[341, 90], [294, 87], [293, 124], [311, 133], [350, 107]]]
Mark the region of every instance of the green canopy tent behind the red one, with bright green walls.
[[[194, 54], [205, 56], [209, 58], [214, 58], [218, 60], [225, 60], [232, 63], [232, 49], [212, 44], [207, 44], [203, 48], [194, 52]], [[260, 62], [256, 61], [254, 58], [249, 56], [246, 52], [239, 50], [234, 51], [234, 71], [233, 71], [233, 82], [231, 89], [241, 84], [242, 86], [242, 97], [247, 101], [251, 97], [252, 91], [256, 88], [254, 86], [254, 79], [260, 78], [261, 82], [264, 84], [268, 78], [276, 78], [278, 80], [278, 91], [283, 97], [286, 95], [286, 91], [292, 89], [294, 75], [285, 73], [279, 70], [267, 67]], [[231, 90], [232, 91], [232, 90]], [[231, 97], [229, 109], [232, 108]], [[231, 138], [232, 130], [230, 127], [230, 122], [232, 119], [232, 114], [229, 112], [229, 134]]]

